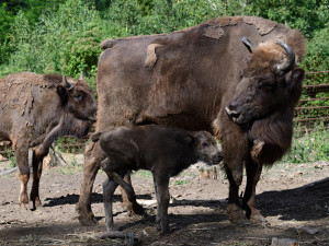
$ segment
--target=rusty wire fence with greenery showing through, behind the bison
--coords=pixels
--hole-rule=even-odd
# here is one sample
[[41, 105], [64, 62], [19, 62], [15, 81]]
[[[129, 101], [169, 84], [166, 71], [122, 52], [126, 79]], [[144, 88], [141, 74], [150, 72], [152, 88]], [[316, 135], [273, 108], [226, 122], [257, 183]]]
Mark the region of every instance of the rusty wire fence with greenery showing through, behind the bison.
[[[307, 72], [303, 83], [302, 97], [295, 108], [294, 124], [300, 126], [304, 131], [311, 131], [321, 125], [329, 128], [329, 70]], [[61, 150], [70, 153], [82, 153], [91, 132], [81, 139], [63, 137], [57, 140]], [[0, 142], [0, 154], [8, 155], [10, 142]]]

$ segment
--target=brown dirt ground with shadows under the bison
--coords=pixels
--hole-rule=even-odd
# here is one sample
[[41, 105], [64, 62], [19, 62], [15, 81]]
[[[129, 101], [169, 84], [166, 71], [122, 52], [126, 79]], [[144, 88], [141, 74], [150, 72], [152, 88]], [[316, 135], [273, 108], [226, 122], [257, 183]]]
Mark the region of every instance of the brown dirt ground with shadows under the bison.
[[[83, 156], [67, 155], [71, 167], [54, 167], [41, 180], [43, 208], [21, 211], [15, 174], [0, 177], [0, 245], [281, 245], [288, 238], [296, 245], [329, 245], [329, 163], [302, 165], [276, 164], [263, 172], [257, 201], [269, 225], [238, 226], [227, 220], [228, 183], [201, 177], [195, 166], [171, 179], [169, 207], [171, 233], [160, 235], [155, 227], [156, 201], [150, 173], [133, 175], [138, 201], [147, 216], [128, 216], [121, 207], [116, 190], [114, 223], [121, 231], [134, 232], [135, 239], [100, 239], [105, 232], [100, 172], [92, 196], [92, 209], [99, 220], [82, 226], [77, 220], [76, 203], [82, 180]], [[8, 167], [0, 162], [0, 169]], [[320, 181], [320, 183], [318, 183]], [[31, 187], [31, 183], [29, 184]], [[273, 243], [272, 243], [273, 239]]]

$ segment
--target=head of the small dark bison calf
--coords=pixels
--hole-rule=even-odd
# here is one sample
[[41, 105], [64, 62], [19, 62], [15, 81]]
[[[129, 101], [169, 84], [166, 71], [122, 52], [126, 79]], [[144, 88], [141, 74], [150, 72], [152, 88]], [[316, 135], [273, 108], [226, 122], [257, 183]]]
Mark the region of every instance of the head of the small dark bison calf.
[[222, 151], [219, 150], [216, 140], [207, 131], [194, 132], [195, 149], [198, 160], [208, 165], [216, 165], [223, 160]]

